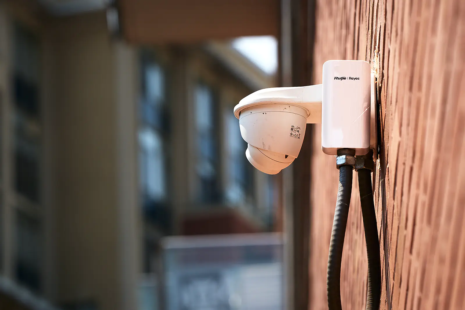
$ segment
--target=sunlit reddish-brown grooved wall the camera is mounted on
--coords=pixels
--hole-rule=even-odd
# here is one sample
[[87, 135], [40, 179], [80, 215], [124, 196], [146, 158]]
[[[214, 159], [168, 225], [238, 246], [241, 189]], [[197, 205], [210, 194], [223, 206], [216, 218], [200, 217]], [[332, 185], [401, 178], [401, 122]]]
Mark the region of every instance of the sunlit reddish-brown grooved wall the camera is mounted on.
[[[378, 76], [380, 155], [373, 173], [381, 309], [465, 307], [465, 4], [460, 0], [316, 1], [313, 82], [328, 59], [364, 59]], [[311, 157], [309, 309], [327, 309], [335, 160]], [[344, 309], [363, 309], [366, 254], [354, 172], [341, 274]]]

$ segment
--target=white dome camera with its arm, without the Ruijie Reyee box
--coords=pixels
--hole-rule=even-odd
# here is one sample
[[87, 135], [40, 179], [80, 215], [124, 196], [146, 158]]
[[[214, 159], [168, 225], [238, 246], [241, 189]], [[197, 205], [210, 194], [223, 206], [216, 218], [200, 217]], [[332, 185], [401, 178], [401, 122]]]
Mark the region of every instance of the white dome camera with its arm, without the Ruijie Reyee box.
[[246, 157], [258, 170], [276, 174], [299, 155], [307, 123], [321, 123], [321, 84], [254, 92], [234, 107]]

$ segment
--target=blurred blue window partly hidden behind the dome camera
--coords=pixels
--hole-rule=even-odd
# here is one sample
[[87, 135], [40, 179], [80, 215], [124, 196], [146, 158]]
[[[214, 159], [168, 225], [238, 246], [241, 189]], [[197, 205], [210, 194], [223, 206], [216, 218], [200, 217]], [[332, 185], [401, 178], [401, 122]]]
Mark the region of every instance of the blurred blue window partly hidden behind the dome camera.
[[226, 113], [226, 141], [228, 142], [228, 185], [226, 199], [233, 204], [254, 203], [254, 171], [246, 158], [247, 142], [242, 139], [239, 120], [228, 109]]

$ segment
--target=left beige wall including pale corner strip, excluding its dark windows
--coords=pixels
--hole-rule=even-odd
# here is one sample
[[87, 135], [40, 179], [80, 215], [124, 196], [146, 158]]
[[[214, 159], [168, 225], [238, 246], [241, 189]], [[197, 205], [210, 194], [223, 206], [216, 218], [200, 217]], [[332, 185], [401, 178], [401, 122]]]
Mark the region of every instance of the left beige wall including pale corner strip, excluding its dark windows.
[[14, 279], [8, 70], [10, 33], [20, 22], [41, 46], [43, 296], [57, 304], [94, 301], [101, 310], [135, 309], [134, 49], [110, 38], [105, 12], [55, 19], [30, 4], [0, 1], [3, 275]]

